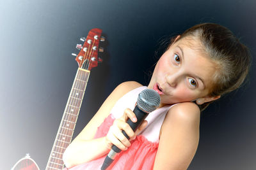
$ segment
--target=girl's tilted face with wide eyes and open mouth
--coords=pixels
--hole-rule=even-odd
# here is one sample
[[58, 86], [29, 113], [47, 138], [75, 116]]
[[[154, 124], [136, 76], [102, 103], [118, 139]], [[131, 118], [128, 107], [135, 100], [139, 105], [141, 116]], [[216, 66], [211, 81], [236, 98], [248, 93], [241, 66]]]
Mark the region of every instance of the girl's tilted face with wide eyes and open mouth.
[[179, 39], [157, 62], [148, 88], [160, 94], [161, 106], [198, 98], [211, 99], [207, 95], [212, 87], [216, 64], [198, 50], [200, 47], [200, 40]]

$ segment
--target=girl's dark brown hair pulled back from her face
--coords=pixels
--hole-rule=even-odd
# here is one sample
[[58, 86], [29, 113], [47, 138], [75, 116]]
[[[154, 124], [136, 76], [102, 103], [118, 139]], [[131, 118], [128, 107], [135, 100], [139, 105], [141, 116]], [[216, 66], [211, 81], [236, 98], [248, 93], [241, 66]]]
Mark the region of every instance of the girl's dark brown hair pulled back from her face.
[[[209, 96], [223, 96], [243, 84], [250, 70], [251, 55], [248, 48], [229, 29], [213, 23], [198, 24], [186, 30], [179, 39], [188, 36], [199, 38], [204, 52], [220, 68], [214, 77]], [[210, 103], [202, 104], [201, 110]]]

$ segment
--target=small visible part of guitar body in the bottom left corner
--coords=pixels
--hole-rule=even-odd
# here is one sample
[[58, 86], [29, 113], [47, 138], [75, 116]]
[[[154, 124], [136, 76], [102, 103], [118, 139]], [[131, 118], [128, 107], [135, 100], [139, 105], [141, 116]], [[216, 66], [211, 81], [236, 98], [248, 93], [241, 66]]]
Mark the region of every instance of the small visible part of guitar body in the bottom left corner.
[[40, 170], [35, 160], [31, 159], [27, 154], [26, 157], [20, 159], [11, 170]]

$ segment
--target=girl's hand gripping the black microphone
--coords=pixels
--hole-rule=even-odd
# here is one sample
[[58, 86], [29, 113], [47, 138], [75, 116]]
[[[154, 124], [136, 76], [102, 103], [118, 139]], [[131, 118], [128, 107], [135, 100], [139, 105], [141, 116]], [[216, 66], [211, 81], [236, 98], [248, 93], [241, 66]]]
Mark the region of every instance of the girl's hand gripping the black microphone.
[[137, 122], [137, 118], [133, 111], [127, 108], [124, 111], [124, 115], [122, 115], [120, 118], [117, 118], [113, 122], [113, 125], [109, 128], [108, 134], [106, 136], [106, 143], [109, 149], [111, 149], [112, 145], [116, 145], [118, 148], [120, 148], [120, 150], [127, 150], [127, 148], [131, 146], [131, 143], [124, 136], [122, 130], [124, 130], [129, 136], [130, 140], [132, 140], [135, 139], [136, 135], [141, 132], [147, 125], [147, 120], [144, 120], [136, 132], [134, 132], [132, 131], [129, 124], [126, 123], [129, 118], [132, 120], [132, 122]]

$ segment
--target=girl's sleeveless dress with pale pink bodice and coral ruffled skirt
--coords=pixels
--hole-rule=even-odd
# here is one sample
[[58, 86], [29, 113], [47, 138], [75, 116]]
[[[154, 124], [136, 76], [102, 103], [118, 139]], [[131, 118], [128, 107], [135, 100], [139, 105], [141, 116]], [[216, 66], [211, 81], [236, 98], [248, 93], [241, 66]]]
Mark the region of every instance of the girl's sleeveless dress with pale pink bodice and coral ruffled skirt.
[[[140, 94], [140, 92], [144, 89], [147, 89], [147, 87], [139, 87], [131, 90], [121, 97], [111, 110], [111, 114], [98, 127], [94, 138], [106, 136], [109, 127], [113, 124], [115, 118], [122, 117], [126, 108], [133, 110], [138, 98], [138, 94]], [[138, 134], [134, 140], [131, 141], [131, 146], [127, 150], [118, 153], [114, 162], [108, 167], [108, 170], [153, 169], [159, 144], [159, 132], [161, 125], [163, 124], [167, 111], [172, 106], [164, 106], [163, 108], [159, 108], [149, 113], [148, 117], [146, 118], [148, 122], [147, 127], [140, 132], [140, 134]], [[105, 157], [106, 155], [100, 157], [99, 159], [80, 164], [73, 167], [72, 170], [100, 169]]]

